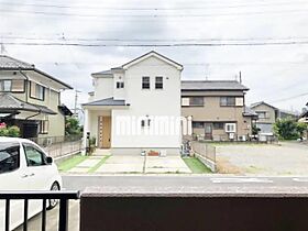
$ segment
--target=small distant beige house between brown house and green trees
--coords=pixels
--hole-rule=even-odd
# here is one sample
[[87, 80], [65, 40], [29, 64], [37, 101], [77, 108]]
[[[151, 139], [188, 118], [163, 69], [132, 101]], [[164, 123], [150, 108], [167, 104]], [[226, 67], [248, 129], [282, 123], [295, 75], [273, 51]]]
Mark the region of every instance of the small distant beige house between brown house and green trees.
[[257, 113], [256, 127], [260, 133], [273, 133], [273, 125], [279, 117], [279, 109], [264, 101], [252, 103], [250, 107]]

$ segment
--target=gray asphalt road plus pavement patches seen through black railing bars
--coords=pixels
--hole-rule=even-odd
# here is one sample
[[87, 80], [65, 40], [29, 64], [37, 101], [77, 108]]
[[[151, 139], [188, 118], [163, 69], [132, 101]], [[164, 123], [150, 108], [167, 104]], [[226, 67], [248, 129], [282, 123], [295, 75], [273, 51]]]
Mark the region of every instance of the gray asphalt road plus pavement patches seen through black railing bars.
[[[64, 187], [67, 190], [85, 190], [87, 187], [113, 187], [113, 188], [143, 188], [150, 191], [155, 188], [193, 188], [198, 189], [229, 189], [237, 188], [237, 191], [250, 190], [279, 191], [285, 189], [289, 193], [298, 190], [308, 193], [307, 177], [237, 177], [237, 176], [63, 176]], [[58, 207], [47, 212], [47, 231], [57, 231]], [[29, 222], [29, 230], [41, 230], [41, 215], [37, 215]], [[79, 201], [69, 204], [69, 231], [79, 230]], [[18, 229], [16, 231], [22, 231]]]

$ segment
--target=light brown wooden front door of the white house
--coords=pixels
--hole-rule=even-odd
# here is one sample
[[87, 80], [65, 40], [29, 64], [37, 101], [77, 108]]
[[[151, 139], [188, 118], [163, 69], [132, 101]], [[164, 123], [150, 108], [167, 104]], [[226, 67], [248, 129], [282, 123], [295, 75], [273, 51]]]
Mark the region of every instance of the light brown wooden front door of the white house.
[[101, 148], [111, 147], [111, 117], [99, 117], [99, 143]]

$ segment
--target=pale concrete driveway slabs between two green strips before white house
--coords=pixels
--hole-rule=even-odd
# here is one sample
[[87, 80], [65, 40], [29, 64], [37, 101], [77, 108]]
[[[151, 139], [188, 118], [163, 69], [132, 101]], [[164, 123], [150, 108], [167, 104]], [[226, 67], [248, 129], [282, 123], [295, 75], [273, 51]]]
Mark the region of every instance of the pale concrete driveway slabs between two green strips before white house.
[[180, 156], [110, 156], [97, 170], [97, 174], [121, 173], [191, 173]]

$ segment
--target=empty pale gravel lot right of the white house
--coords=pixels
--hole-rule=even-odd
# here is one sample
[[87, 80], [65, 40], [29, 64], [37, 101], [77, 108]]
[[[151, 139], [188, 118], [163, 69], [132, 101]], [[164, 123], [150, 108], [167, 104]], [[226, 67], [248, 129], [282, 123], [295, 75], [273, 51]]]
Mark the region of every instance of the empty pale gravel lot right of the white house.
[[217, 145], [219, 173], [308, 176], [308, 145], [300, 143]]

